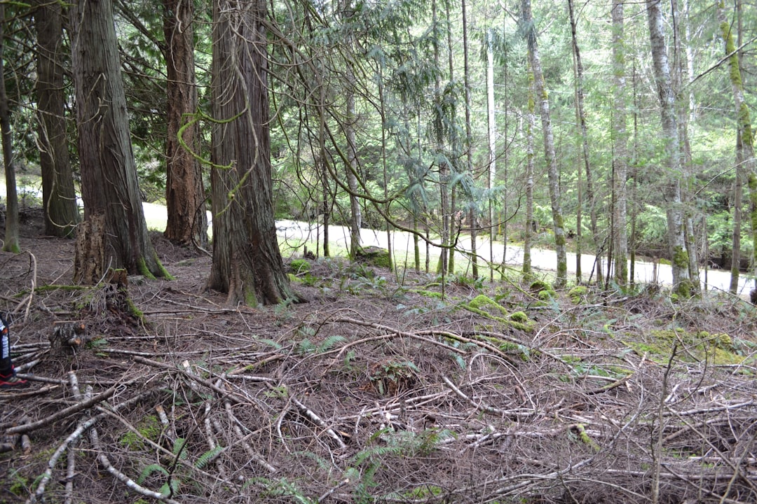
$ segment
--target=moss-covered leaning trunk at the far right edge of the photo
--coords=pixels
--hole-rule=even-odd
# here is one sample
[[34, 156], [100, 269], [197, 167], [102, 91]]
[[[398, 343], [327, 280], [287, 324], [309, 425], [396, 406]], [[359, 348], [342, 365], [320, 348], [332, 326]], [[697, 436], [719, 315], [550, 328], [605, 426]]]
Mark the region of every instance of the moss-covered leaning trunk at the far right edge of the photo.
[[[734, 32], [731, 23], [728, 22], [724, 2], [718, 2], [718, 21], [720, 22], [721, 36], [725, 45], [725, 54], [728, 57], [728, 73], [731, 77], [731, 91], [734, 94], [734, 108], [736, 110], [737, 127], [741, 133], [741, 159], [743, 173], [746, 173], [746, 187], [749, 188], [749, 223], [751, 224], [752, 243], [757, 244], [757, 162], [755, 162], [754, 137], [752, 136], [752, 119], [749, 117], [749, 106], [744, 100], [744, 87], [741, 80], [741, 66], [739, 55], [734, 42]], [[737, 155], [738, 157], [738, 155]], [[757, 246], [752, 246], [752, 275], [757, 271]], [[755, 277], [755, 289], [757, 289], [757, 277]]]

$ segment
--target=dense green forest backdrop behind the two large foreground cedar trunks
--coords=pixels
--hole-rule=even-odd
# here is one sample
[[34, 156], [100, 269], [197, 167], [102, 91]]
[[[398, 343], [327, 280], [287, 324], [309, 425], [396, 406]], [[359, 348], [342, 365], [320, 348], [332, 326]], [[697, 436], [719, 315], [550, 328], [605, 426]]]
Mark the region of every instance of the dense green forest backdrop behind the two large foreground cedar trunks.
[[[70, 202], [72, 190], [85, 188], [66, 18], [55, 24], [52, 49], [45, 39], [33, 43], [44, 34], [37, 32], [47, 19], [40, 13], [51, 5], [5, 6], [4, 145], [12, 149], [7, 167], [23, 177], [41, 162], [44, 168], [51, 151], [45, 145], [66, 131], [55, 148], [67, 151], [70, 167], [53, 172], [75, 182], [42, 183], [48, 232], [66, 234], [79, 211], [60, 200]], [[216, 166], [210, 8], [114, 7], [109, 22], [139, 197], [167, 203], [167, 237], [204, 246], [199, 210]], [[558, 263], [568, 243], [578, 255], [577, 281], [591, 274], [600, 283], [632, 283], [640, 254], [670, 262], [684, 291], [699, 288], [699, 267], [730, 268], [735, 292], [754, 250], [752, 8], [674, 2], [653, 11], [621, 2], [540, 2], [533, 14], [528, 2], [263, 9], [276, 217], [349, 225], [353, 256], [360, 227], [410, 230], [410, 265], [442, 274], [454, 273], [462, 232], [474, 237], [472, 254], [466, 252], [473, 277], [493, 280], [501, 269], [491, 261], [494, 245], [475, 247], [475, 237], [489, 235], [503, 243], [500, 257], [507, 243], [526, 251], [538, 243], [556, 248]], [[662, 53], [653, 51], [654, 16], [662, 23]], [[172, 36], [182, 23], [192, 29]], [[45, 62], [61, 70], [61, 85], [53, 86], [60, 112], [38, 107], [51, 100], [39, 85]], [[188, 129], [195, 130], [191, 137]], [[177, 142], [179, 130], [185, 138]], [[537, 147], [542, 138], [544, 147]], [[53, 172], [43, 169], [42, 178]], [[12, 249], [12, 228], [6, 234]], [[315, 253], [331, 254], [328, 234], [322, 239]], [[424, 242], [441, 246], [437, 264], [429, 264], [428, 246], [422, 254]], [[581, 252], [609, 260], [582, 271]], [[626, 258], [630, 273], [615, 267]], [[524, 271], [529, 262], [526, 252]], [[561, 268], [556, 264], [557, 283], [567, 280]]]

